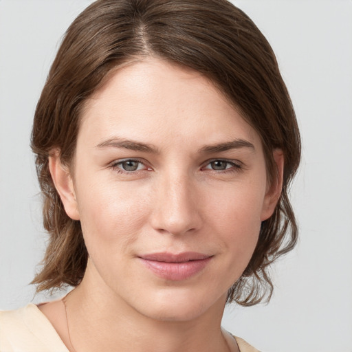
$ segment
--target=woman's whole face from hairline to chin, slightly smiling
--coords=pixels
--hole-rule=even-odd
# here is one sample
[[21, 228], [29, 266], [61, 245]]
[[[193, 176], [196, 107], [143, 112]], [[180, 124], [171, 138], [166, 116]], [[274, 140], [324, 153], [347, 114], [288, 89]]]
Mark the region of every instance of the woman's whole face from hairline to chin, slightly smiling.
[[162, 320], [224, 305], [276, 200], [254, 129], [201, 74], [155, 58], [87, 101], [69, 197], [91, 283]]

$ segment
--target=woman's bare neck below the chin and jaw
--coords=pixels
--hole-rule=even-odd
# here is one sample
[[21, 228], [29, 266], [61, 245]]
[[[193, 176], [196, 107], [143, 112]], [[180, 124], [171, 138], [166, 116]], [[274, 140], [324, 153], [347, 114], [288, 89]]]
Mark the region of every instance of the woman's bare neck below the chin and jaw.
[[92, 284], [88, 274], [66, 298], [70, 338], [77, 352], [231, 351], [221, 331], [224, 298], [200, 316], [163, 320], [136, 311], [103, 282]]

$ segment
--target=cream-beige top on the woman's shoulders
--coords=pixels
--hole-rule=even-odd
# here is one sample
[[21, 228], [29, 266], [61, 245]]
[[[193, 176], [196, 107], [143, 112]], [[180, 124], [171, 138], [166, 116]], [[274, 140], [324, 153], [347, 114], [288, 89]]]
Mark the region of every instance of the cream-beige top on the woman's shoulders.
[[[241, 352], [259, 352], [236, 338]], [[39, 308], [30, 303], [14, 311], [0, 311], [0, 352], [69, 352]]]

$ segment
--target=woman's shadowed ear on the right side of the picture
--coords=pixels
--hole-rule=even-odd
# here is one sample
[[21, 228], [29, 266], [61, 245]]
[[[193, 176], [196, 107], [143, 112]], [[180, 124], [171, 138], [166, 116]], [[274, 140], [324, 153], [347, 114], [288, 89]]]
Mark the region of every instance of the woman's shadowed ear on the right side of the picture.
[[267, 220], [272, 216], [283, 188], [283, 166], [285, 162], [283, 151], [278, 148], [274, 149], [273, 157], [276, 164], [276, 177], [272, 181], [272, 184], [267, 187], [263, 202], [261, 221]]

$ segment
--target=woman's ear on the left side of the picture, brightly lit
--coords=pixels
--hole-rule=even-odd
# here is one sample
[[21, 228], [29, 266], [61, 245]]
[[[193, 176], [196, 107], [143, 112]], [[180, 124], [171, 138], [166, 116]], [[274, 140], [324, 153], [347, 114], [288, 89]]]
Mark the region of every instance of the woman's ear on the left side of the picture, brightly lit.
[[59, 151], [50, 153], [49, 170], [66, 214], [73, 220], [79, 220], [80, 215], [74, 190], [74, 181], [69, 173], [69, 168], [61, 163]]

